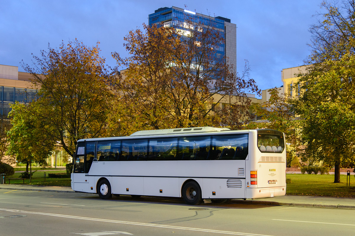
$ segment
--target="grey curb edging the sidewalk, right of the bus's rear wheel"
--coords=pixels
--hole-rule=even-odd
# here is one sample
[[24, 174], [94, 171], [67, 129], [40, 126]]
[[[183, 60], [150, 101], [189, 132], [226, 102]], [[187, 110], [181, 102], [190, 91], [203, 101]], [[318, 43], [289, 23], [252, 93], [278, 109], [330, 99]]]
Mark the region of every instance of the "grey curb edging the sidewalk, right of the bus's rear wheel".
[[271, 206], [298, 206], [298, 207], [355, 209], [355, 206], [348, 206], [348, 205], [323, 205], [323, 204], [311, 204], [311, 203], [289, 203], [289, 202], [253, 201], [253, 200], [236, 200], [236, 199], [233, 199], [230, 202], [239, 203], [239, 204], [256, 204], [256, 205], [271, 205]]

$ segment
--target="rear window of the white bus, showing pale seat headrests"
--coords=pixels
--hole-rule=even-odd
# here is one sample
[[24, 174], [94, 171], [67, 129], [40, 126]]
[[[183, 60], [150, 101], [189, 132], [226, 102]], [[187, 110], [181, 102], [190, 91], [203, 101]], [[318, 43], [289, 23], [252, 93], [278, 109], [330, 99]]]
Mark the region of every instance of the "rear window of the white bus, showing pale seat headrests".
[[285, 149], [283, 135], [258, 134], [258, 148], [261, 152], [282, 153]]

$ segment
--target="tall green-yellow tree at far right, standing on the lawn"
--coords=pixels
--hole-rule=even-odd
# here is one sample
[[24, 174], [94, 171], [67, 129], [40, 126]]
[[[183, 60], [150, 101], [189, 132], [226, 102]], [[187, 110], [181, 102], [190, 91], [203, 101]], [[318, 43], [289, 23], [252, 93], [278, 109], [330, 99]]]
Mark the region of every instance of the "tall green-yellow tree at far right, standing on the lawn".
[[304, 157], [340, 167], [355, 160], [355, 1], [322, 2], [325, 13], [310, 29], [312, 54], [292, 103], [301, 118]]

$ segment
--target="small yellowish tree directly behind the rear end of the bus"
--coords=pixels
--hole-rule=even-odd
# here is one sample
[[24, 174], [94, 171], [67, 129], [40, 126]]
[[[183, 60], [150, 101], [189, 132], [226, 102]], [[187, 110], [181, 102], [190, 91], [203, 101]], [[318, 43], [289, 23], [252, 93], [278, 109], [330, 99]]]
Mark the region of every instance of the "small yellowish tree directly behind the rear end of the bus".
[[289, 98], [280, 92], [280, 88], [271, 88], [267, 92], [270, 96], [267, 101], [251, 105], [255, 116], [262, 117], [263, 121], [251, 121], [244, 128], [267, 128], [283, 132], [288, 144], [286, 164], [290, 167], [291, 162], [297, 162], [297, 157], [301, 154], [300, 137], [297, 132], [299, 120], [295, 117]]

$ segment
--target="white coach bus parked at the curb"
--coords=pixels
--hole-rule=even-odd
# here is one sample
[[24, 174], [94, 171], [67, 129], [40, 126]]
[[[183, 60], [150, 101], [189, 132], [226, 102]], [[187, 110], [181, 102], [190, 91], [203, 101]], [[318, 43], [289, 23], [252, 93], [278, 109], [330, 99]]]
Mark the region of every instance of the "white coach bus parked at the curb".
[[74, 191], [202, 199], [285, 195], [284, 134], [272, 129], [197, 127], [138, 131], [126, 137], [80, 139]]

